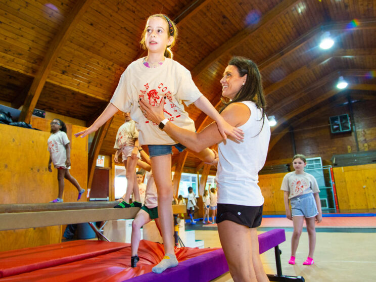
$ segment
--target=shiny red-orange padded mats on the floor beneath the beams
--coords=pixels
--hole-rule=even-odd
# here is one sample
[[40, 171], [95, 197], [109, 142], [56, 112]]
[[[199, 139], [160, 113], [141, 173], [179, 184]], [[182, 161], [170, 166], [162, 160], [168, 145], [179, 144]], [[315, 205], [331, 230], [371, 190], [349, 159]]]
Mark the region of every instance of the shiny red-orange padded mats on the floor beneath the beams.
[[[70, 248], [73, 245], [75, 248]], [[108, 252], [98, 255], [97, 250], [102, 248], [104, 251], [106, 246], [109, 247]], [[182, 262], [217, 249], [176, 248], [175, 254]], [[138, 249], [140, 261], [137, 267], [132, 268], [130, 253], [130, 244], [98, 241], [74, 241], [4, 252], [0, 253], [0, 271], [6, 274], [4, 276], [12, 276], [3, 277], [1, 281], [124, 281], [151, 272], [164, 256], [163, 245], [142, 240]], [[75, 257], [74, 261], [71, 254]], [[24, 257], [29, 267], [20, 268], [25, 264]]]

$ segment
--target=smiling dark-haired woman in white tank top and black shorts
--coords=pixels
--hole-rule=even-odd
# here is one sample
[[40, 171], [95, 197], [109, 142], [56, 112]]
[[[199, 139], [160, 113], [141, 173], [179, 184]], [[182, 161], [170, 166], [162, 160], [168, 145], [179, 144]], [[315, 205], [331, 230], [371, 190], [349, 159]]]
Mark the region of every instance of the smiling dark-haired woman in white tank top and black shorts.
[[[270, 139], [265, 116], [265, 99], [261, 76], [255, 63], [233, 57], [221, 79], [222, 96], [231, 99], [222, 110], [222, 117], [243, 130], [240, 142], [224, 140], [216, 122], [200, 133], [167, 122], [163, 128], [169, 136], [192, 151], [218, 144], [218, 223], [219, 239], [234, 281], [269, 281], [263, 269], [256, 227], [261, 224], [264, 198], [257, 185]], [[140, 101], [144, 115], [158, 124], [165, 117], [163, 102], [152, 106]], [[212, 162], [211, 164], [214, 164]]]

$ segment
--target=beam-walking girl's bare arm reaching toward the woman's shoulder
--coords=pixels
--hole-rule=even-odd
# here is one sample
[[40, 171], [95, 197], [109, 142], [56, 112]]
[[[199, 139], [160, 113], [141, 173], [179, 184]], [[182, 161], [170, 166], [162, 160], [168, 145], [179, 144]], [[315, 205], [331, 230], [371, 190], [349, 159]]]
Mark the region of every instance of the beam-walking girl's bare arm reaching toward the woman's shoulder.
[[216, 121], [218, 130], [224, 139], [227, 137], [226, 134], [238, 140], [244, 138], [242, 134], [243, 130], [226, 122], [205, 96], [201, 96], [194, 104], [197, 108]]

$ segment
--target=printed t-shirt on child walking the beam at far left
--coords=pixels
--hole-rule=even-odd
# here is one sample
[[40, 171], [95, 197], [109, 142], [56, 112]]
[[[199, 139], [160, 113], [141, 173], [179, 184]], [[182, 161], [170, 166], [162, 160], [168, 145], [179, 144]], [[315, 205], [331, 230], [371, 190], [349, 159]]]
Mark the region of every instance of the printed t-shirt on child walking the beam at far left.
[[67, 151], [65, 146], [69, 143], [68, 136], [63, 131], [52, 133], [48, 140], [49, 152], [55, 167], [70, 168], [65, 166]]

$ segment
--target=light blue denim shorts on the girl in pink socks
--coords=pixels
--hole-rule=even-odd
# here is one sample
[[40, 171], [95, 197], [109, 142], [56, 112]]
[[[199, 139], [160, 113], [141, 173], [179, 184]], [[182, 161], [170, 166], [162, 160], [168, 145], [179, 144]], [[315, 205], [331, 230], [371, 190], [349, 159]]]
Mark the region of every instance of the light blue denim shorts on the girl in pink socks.
[[312, 193], [290, 199], [291, 216], [314, 217], [318, 214], [315, 198]]

